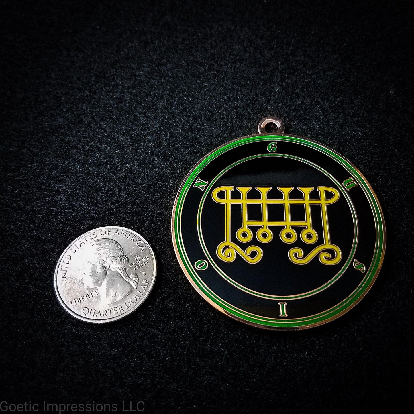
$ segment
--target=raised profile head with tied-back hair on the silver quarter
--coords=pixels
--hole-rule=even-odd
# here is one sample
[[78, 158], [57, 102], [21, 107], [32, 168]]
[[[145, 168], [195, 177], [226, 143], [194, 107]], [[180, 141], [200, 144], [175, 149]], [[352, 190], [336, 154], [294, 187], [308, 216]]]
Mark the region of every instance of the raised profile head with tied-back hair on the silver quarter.
[[101, 305], [115, 303], [138, 287], [136, 273], [128, 275], [128, 257], [122, 246], [110, 238], [100, 238], [83, 249], [80, 271], [85, 288], [96, 288]]

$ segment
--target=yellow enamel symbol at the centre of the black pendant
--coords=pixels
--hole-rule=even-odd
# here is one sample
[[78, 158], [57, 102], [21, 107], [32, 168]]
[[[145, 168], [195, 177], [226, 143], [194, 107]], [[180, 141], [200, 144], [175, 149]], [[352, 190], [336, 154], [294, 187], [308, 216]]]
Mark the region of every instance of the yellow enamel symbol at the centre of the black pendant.
[[[241, 194], [241, 198], [232, 198], [231, 193], [235, 187], [231, 185], [223, 185], [217, 187], [212, 192], [212, 198], [219, 204], [225, 206], [224, 221], [224, 241], [217, 246], [217, 256], [225, 262], [233, 262], [236, 259], [236, 253], [240, 255], [246, 262], [255, 264], [263, 257], [263, 250], [258, 246], [249, 246], [246, 250], [240, 248], [236, 243], [231, 241], [231, 206], [234, 204], [241, 205], [242, 226], [236, 231], [236, 239], [242, 243], [248, 243], [253, 239], [253, 231], [249, 226], [259, 226], [255, 237], [261, 243], [269, 243], [273, 239], [273, 231], [270, 226], [281, 226], [282, 230], [279, 237], [284, 243], [295, 243], [298, 239], [298, 233], [294, 227], [303, 227], [300, 232], [300, 238], [307, 244], [315, 243], [319, 236], [312, 227], [312, 215], [310, 212], [311, 205], [319, 205], [322, 216], [323, 243], [313, 248], [313, 250], [305, 256], [302, 248], [294, 247], [288, 252], [291, 262], [297, 265], [305, 265], [313, 258], [318, 259], [324, 265], [336, 265], [342, 258], [342, 252], [338, 246], [330, 241], [330, 232], [328, 224], [327, 205], [337, 202], [339, 192], [332, 187], [318, 186], [316, 189], [319, 193], [319, 199], [311, 200], [310, 193], [315, 190], [314, 187], [298, 187], [303, 194], [303, 199], [289, 198], [289, 193], [294, 187], [277, 187], [282, 193], [281, 199], [268, 199], [267, 193], [272, 187], [255, 187], [260, 193], [260, 198], [248, 198], [248, 193], [253, 187], [237, 186], [236, 190]], [[219, 195], [221, 194], [221, 197]], [[330, 194], [330, 196], [328, 196]], [[248, 205], [260, 205], [262, 212], [261, 220], [248, 220]], [[284, 219], [279, 221], [269, 220], [267, 206], [270, 204], [281, 204], [284, 207]], [[304, 221], [291, 220], [291, 205], [303, 205], [305, 209]]]

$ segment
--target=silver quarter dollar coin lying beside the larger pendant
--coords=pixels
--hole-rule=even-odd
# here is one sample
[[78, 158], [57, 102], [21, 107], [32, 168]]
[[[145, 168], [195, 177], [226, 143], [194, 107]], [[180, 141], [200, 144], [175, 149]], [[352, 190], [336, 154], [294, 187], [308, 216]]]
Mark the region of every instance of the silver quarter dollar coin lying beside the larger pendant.
[[55, 269], [55, 292], [75, 318], [93, 323], [123, 318], [154, 286], [156, 259], [140, 234], [124, 227], [99, 227], [65, 249]]

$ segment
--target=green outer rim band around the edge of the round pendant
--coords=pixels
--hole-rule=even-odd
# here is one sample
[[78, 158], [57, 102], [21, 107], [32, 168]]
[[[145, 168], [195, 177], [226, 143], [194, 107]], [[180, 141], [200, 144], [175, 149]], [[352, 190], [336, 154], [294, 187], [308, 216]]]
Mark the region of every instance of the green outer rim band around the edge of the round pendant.
[[[194, 271], [193, 266], [190, 264], [187, 255], [185, 253], [185, 248], [181, 241], [181, 210], [183, 206], [183, 202], [185, 200], [185, 195], [188, 192], [188, 189], [193, 183], [194, 179], [198, 176], [198, 173], [210, 162], [212, 159], [216, 158], [220, 154], [228, 151], [229, 149], [238, 147], [243, 144], [247, 144], [250, 142], [257, 142], [257, 141], [270, 141], [270, 140], [283, 140], [287, 142], [296, 142], [298, 144], [305, 145], [307, 147], [317, 149], [318, 151], [322, 152], [330, 156], [331, 158], [335, 159], [339, 164], [341, 164], [344, 168], [347, 169], [351, 173], [351, 175], [356, 179], [358, 184], [363, 189], [366, 197], [368, 198], [368, 202], [371, 205], [371, 209], [373, 211], [374, 219], [375, 219], [375, 232], [376, 232], [376, 239], [375, 239], [375, 251], [373, 255], [373, 260], [371, 262], [371, 266], [369, 267], [368, 271], [366, 272], [365, 277], [362, 279], [359, 286], [352, 292], [347, 298], [343, 301], [338, 303], [336, 306], [325, 310], [317, 315], [308, 316], [305, 318], [298, 318], [295, 320], [282, 320], [277, 318], [265, 318], [259, 315], [254, 315], [252, 313], [248, 313], [244, 310], [238, 309], [235, 306], [231, 305], [230, 303], [224, 301], [219, 296], [214, 294], [208, 286], [206, 286], [198, 277], [197, 273]], [[177, 258], [181, 264], [181, 267], [188, 277], [189, 281], [193, 284], [195, 289], [199, 292], [201, 296], [203, 296], [209, 303], [211, 303], [214, 307], [218, 308], [222, 312], [226, 313], [226, 315], [231, 316], [236, 320], [240, 320], [241, 322], [247, 323], [249, 325], [255, 325], [262, 328], [267, 329], [304, 329], [308, 327], [313, 327], [317, 325], [322, 325], [324, 323], [329, 322], [339, 316], [343, 315], [347, 312], [350, 308], [356, 305], [363, 296], [368, 292], [371, 288], [373, 282], [375, 281], [376, 277], [378, 276], [378, 272], [380, 271], [380, 267], [383, 262], [383, 257], [385, 253], [385, 223], [384, 217], [379, 205], [378, 199], [363, 177], [361, 172], [351, 164], [347, 159], [342, 157], [340, 154], [335, 152], [333, 149], [326, 147], [319, 142], [310, 141], [306, 138], [292, 136], [292, 135], [253, 135], [250, 137], [242, 137], [237, 140], [233, 140], [227, 142], [226, 144], [221, 145], [214, 149], [212, 152], [207, 154], [202, 160], [197, 163], [193, 169], [188, 173], [187, 177], [185, 178], [181, 188], [178, 190], [176, 201], [174, 203], [174, 209], [171, 219], [171, 230], [173, 236], [173, 244], [176, 250]]]

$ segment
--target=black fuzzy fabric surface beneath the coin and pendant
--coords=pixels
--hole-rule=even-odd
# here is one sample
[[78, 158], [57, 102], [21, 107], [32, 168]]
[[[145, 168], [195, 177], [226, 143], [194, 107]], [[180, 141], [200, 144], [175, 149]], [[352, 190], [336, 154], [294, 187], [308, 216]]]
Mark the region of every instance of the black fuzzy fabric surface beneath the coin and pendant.
[[[412, 401], [411, 2], [13, 2], [1, 10], [1, 399], [145, 412], [383, 412]], [[176, 260], [186, 173], [276, 115], [360, 168], [388, 230], [346, 315], [267, 332], [209, 306]], [[154, 291], [89, 325], [53, 291], [63, 249], [125, 226]]]

